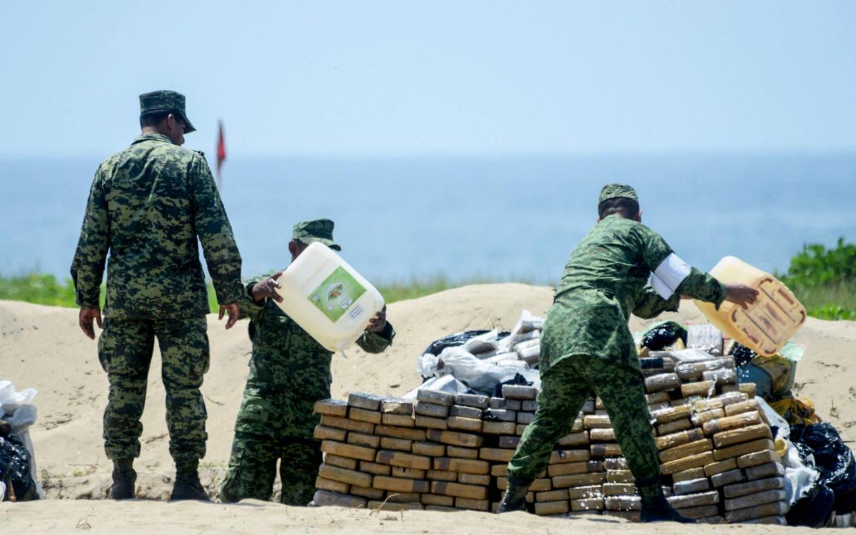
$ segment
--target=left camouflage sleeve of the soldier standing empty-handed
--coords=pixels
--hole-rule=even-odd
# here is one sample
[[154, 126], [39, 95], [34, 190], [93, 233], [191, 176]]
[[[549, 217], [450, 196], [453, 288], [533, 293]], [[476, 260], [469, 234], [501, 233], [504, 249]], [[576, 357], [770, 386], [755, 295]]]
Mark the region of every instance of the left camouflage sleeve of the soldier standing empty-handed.
[[100, 309], [101, 281], [109, 250], [110, 219], [107, 216], [107, 198], [99, 167], [89, 190], [86, 214], [80, 228], [80, 240], [71, 262], [74, 302], [80, 308]]

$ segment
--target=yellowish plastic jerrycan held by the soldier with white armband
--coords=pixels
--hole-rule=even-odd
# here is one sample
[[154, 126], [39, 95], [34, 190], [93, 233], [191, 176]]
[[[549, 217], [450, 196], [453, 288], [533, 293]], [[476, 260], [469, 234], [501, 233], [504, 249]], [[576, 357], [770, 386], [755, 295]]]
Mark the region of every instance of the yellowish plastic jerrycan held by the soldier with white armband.
[[746, 284], [758, 290], [758, 300], [747, 310], [728, 301], [719, 310], [710, 303], [695, 301], [711, 324], [755, 353], [778, 353], [805, 323], [805, 307], [770, 273], [727, 256], [710, 270], [710, 275], [719, 282]]

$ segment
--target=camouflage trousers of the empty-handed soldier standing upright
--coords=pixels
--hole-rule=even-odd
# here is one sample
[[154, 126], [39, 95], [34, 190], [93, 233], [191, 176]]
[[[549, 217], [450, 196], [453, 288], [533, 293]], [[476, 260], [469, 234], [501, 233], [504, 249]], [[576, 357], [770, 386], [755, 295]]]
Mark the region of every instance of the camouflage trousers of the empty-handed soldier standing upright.
[[110, 459], [140, 456], [140, 416], [155, 339], [161, 351], [166, 389], [169, 454], [176, 463], [205, 456], [205, 401], [199, 392], [208, 371], [205, 318], [104, 319], [98, 360], [107, 372], [110, 394], [104, 409], [104, 451]]

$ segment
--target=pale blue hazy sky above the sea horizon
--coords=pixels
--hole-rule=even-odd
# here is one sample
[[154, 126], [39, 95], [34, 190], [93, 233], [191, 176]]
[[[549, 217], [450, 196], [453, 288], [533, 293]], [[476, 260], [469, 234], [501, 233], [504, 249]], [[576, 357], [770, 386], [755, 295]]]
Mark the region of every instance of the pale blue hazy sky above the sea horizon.
[[856, 2], [4, 2], [0, 155], [856, 150]]

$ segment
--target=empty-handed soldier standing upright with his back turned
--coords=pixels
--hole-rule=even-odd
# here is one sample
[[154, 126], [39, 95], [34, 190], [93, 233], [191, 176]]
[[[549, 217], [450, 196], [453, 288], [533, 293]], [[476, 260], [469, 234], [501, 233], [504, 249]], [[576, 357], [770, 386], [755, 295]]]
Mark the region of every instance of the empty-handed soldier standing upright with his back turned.
[[171, 499], [208, 499], [197, 468], [205, 455], [208, 370], [205, 262], [229, 329], [243, 295], [241, 255], [211, 170], [201, 152], [181, 148], [193, 132], [185, 98], [172, 91], [140, 95], [142, 133], [98, 167], [86, 204], [71, 276], [80, 329], [95, 338], [102, 326], [99, 293], [107, 267], [104, 331], [98, 359], [110, 381], [104, 449], [113, 461], [110, 497], [134, 497], [133, 461], [140, 455], [140, 415], [155, 338], [163, 360], [169, 453], [176, 478]]

